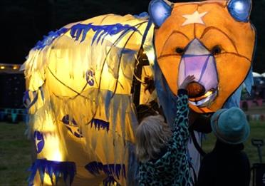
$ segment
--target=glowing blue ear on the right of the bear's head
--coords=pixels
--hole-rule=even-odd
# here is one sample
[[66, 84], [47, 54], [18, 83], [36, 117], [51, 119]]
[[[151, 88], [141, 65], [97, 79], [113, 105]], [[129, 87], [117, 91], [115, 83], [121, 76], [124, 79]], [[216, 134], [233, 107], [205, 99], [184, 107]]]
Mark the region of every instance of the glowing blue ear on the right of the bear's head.
[[230, 0], [228, 2], [227, 9], [232, 17], [237, 21], [248, 22], [251, 6], [251, 0]]

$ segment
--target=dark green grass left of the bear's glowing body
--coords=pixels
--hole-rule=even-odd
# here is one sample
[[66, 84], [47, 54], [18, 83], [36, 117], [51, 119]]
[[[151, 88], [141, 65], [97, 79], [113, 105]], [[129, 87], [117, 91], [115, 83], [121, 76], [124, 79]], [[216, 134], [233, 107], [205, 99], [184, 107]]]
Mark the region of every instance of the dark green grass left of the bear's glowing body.
[[27, 185], [31, 165], [25, 123], [0, 123], [0, 185]]

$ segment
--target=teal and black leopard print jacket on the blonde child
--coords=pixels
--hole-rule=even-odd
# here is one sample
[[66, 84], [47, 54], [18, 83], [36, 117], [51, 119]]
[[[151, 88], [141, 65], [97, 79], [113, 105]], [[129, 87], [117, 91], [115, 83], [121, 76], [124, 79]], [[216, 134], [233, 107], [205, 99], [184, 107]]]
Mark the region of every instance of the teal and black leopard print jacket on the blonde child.
[[187, 142], [188, 130], [188, 97], [187, 91], [180, 90], [177, 96], [177, 115], [172, 139], [169, 141], [167, 151], [155, 162], [149, 160], [140, 162], [139, 185], [180, 185], [191, 186]]

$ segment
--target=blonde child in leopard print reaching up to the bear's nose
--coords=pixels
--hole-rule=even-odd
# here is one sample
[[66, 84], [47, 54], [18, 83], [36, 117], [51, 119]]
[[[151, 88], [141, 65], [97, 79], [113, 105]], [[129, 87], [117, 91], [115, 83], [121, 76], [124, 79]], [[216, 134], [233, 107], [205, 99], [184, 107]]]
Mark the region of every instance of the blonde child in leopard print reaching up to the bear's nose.
[[139, 185], [192, 185], [187, 155], [188, 96], [187, 76], [177, 93], [177, 115], [171, 131], [162, 115], [144, 118], [136, 130], [136, 155], [140, 160]]

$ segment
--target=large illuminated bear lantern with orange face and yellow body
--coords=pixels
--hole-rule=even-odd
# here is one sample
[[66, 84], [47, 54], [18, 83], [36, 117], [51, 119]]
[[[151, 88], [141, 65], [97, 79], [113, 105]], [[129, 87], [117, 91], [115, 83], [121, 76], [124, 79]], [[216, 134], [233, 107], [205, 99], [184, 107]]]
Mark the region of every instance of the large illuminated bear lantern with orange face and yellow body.
[[24, 63], [36, 153], [29, 182], [135, 185], [133, 95], [142, 78], [136, 72], [147, 74], [142, 56], [168, 123], [188, 75], [196, 77], [188, 87], [192, 110], [238, 105], [243, 83], [249, 90], [252, 81], [250, 11], [250, 0], [152, 0], [149, 15], [109, 14], [50, 32]]

